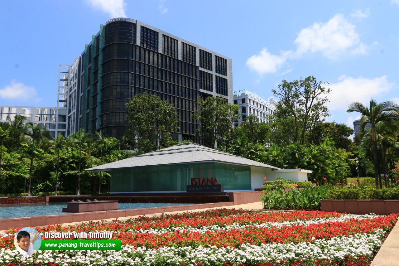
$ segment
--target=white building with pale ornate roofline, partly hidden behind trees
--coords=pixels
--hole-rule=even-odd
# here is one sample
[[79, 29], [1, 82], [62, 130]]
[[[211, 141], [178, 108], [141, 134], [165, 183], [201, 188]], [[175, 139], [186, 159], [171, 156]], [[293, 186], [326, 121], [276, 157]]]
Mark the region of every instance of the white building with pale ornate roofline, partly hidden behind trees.
[[266, 101], [256, 93], [246, 89], [234, 91], [233, 97], [234, 104], [238, 104], [241, 111], [241, 119], [235, 122], [235, 125], [241, 125], [247, 115], [256, 115], [259, 123], [266, 122], [267, 116], [275, 112], [278, 104], [273, 97], [270, 97], [269, 101]]

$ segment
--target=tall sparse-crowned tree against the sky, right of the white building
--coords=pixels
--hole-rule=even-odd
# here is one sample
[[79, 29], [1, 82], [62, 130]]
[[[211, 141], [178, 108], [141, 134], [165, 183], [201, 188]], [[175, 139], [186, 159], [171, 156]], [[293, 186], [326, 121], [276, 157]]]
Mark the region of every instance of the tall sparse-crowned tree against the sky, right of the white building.
[[279, 99], [277, 116], [294, 117], [294, 142], [303, 145], [306, 133], [329, 116], [325, 104], [328, 101], [326, 95], [330, 93], [330, 89], [324, 87], [326, 84], [328, 83], [317, 81], [315, 77], [309, 76], [292, 82], [283, 80], [278, 89], [272, 90]]

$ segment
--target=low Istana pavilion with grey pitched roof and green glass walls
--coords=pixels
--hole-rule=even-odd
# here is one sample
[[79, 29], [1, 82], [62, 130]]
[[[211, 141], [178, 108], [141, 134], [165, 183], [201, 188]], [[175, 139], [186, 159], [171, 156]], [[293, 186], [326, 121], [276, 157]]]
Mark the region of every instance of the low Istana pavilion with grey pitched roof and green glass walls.
[[265, 177], [267, 181], [279, 176], [308, 181], [308, 173], [312, 173], [304, 169], [280, 169], [190, 142], [86, 171], [110, 172], [111, 194], [184, 193], [188, 185], [202, 185], [205, 181], [214, 185], [216, 179], [225, 192], [254, 191], [262, 187]]

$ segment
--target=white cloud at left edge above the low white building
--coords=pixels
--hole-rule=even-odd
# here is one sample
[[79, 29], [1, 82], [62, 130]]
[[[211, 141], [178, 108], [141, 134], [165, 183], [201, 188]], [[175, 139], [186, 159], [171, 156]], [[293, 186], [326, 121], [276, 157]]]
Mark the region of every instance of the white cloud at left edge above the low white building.
[[28, 101], [36, 98], [36, 89], [26, 86], [24, 83], [16, 82], [13, 79], [10, 85], [0, 88], [0, 98], [2, 99], [19, 99]]

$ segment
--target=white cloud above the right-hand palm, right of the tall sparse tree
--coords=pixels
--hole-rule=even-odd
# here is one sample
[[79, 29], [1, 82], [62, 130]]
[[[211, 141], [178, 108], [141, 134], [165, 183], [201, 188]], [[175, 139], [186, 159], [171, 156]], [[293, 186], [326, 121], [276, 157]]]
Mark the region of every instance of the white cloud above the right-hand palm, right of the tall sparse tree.
[[381, 93], [388, 92], [394, 83], [387, 80], [387, 76], [368, 79], [365, 77], [347, 77], [342, 75], [337, 83], [330, 83], [331, 92], [328, 95], [330, 110], [347, 110], [350, 103], [354, 101], [367, 104], [369, 100]]

